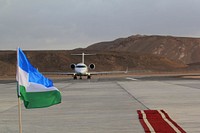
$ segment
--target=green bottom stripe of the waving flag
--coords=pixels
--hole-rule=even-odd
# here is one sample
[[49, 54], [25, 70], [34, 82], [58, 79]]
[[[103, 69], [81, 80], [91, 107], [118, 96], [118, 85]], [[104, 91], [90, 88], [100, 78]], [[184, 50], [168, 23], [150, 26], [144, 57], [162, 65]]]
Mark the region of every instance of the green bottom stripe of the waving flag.
[[20, 86], [20, 98], [27, 109], [49, 107], [61, 103], [59, 91], [26, 92], [24, 86]]

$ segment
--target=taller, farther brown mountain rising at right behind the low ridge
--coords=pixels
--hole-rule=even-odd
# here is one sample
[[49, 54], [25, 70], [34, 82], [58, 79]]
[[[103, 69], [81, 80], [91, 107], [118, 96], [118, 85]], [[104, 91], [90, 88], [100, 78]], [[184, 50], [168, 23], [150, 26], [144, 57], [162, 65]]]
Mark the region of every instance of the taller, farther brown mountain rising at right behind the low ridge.
[[87, 47], [97, 49], [160, 55], [185, 64], [200, 62], [200, 38], [135, 35]]

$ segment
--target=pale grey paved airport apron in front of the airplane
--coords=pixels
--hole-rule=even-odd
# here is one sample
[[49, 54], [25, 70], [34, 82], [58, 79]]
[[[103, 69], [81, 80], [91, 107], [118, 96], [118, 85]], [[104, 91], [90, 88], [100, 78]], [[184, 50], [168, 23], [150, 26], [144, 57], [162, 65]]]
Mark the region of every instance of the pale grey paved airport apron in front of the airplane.
[[[163, 109], [186, 132], [200, 132], [200, 82], [177, 77], [57, 79], [62, 103], [25, 109], [23, 133], [144, 133], [137, 110]], [[18, 133], [16, 83], [0, 81], [0, 133]]]

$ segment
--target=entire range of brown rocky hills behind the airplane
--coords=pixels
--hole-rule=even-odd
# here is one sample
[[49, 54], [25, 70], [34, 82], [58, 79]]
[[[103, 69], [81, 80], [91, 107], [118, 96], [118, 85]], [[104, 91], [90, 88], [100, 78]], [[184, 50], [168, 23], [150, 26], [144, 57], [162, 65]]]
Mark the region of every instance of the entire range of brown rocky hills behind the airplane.
[[[200, 70], [200, 39], [172, 36], [135, 35], [110, 42], [100, 42], [85, 49], [60, 51], [25, 51], [30, 62], [41, 72], [70, 72], [72, 63], [81, 62], [77, 53], [87, 56], [85, 63], [95, 71], [114, 70]], [[16, 51], [0, 51], [0, 76], [15, 75]]]

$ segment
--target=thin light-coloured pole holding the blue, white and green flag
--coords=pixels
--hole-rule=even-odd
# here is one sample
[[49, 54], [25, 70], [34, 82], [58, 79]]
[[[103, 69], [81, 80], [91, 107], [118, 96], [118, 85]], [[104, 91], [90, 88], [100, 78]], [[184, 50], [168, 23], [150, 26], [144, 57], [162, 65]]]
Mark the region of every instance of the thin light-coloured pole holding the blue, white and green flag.
[[19, 80], [19, 71], [18, 71], [18, 63], [19, 63], [19, 47], [17, 48], [17, 64], [16, 64], [16, 78], [17, 78], [17, 97], [18, 97], [18, 119], [19, 119], [19, 133], [22, 133], [22, 109], [21, 109], [21, 100], [20, 100], [20, 85], [18, 83]]

